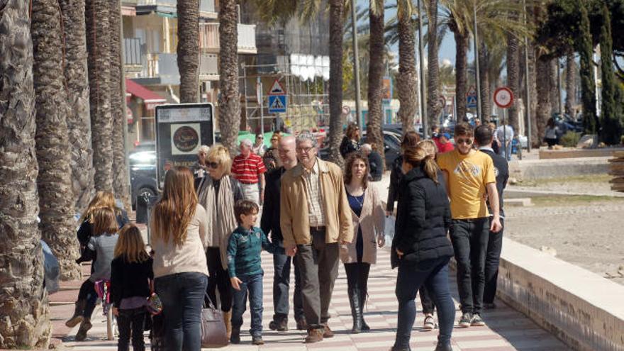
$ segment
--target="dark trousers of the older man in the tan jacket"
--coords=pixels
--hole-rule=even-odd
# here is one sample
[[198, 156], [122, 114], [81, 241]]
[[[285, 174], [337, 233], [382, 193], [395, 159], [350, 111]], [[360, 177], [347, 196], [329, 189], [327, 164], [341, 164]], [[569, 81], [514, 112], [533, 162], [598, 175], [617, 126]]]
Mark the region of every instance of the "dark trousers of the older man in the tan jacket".
[[303, 314], [310, 328], [323, 328], [330, 318], [329, 304], [338, 277], [338, 243], [325, 243], [325, 230], [310, 230], [311, 245], [297, 245], [295, 260], [301, 269]]

